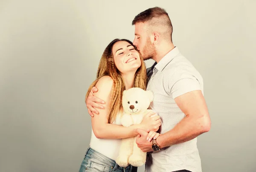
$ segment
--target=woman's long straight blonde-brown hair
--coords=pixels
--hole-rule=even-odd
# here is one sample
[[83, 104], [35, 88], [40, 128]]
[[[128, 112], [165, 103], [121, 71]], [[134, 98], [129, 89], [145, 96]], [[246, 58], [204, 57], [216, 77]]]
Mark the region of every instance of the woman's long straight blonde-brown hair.
[[[102, 57], [100, 59], [96, 80], [90, 85], [86, 94], [86, 99], [87, 99], [90, 93], [90, 90], [92, 89], [92, 87], [96, 85], [96, 83], [99, 81], [99, 79], [102, 78], [102, 76], [110, 76], [113, 79], [113, 88], [111, 91], [111, 103], [110, 103], [109, 112], [108, 112], [108, 123], [112, 123], [115, 120], [119, 110], [122, 109], [122, 94], [123, 94], [123, 91], [125, 90], [124, 80], [121, 76], [121, 73], [116, 68], [114, 58], [113, 58], [113, 52], [112, 52], [113, 45], [119, 41], [126, 41], [130, 43], [134, 47], [134, 49], [138, 51], [137, 48], [133, 45], [133, 43], [127, 39], [114, 39], [112, 42], [110, 42], [108, 46], [105, 48], [105, 51], [103, 52]], [[141, 54], [140, 54], [140, 61], [141, 61], [141, 66], [140, 68], [137, 69], [135, 73], [133, 87], [140, 87], [143, 90], [145, 90], [148, 78], [146, 75], [146, 67], [143, 62], [143, 58]]]

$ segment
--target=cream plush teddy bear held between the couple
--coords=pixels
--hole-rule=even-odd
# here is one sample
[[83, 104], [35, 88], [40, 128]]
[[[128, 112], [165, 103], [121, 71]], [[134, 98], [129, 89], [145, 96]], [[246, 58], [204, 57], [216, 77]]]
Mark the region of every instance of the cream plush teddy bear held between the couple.
[[[139, 87], [133, 87], [123, 91], [122, 107], [124, 112], [121, 117], [121, 124], [124, 127], [129, 127], [133, 124], [140, 124], [143, 117], [149, 111], [148, 107], [153, 101], [153, 93], [145, 91]], [[116, 163], [125, 167], [131, 164], [132, 166], [142, 166], [146, 161], [146, 152], [136, 144], [136, 136], [132, 138], [123, 138], [121, 141], [119, 155], [116, 158]]]

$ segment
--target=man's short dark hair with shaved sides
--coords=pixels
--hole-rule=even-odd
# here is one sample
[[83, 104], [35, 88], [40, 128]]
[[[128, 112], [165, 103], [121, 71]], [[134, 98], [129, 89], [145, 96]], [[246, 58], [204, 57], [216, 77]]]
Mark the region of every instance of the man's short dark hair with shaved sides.
[[134, 17], [132, 25], [140, 22], [147, 22], [151, 28], [167, 28], [167, 30], [164, 31], [164, 37], [167, 36], [171, 38], [172, 41], [172, 22], [165, 9], [160, 7], [148, 8]]

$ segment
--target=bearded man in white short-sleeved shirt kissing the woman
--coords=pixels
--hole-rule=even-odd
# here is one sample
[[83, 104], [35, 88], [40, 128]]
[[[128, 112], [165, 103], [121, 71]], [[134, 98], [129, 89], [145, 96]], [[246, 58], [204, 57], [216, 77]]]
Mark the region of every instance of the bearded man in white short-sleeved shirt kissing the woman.
[[[141, 12], [132, 25], [135, 25], [133, 43], [143, 59], [155, 60], [147, 69], [147, 90], [154, 93], [150, 109], [162, 119], [161, 135], [153, 139], [153, 143], [147, 141], [147, 132], [137, 129], [137, 145], [148, 152], [145, 172], [201, 172], [197, 136], [211, 127], [203, 96], [203, 79], [173, 45], [172, 23], [163, 8]], [[91, 116], [91, 110], [97, 112], [93, 107], [100, 107], [96, 102], [101, 103], [93, 96], [93, 91], [86, 100]]]

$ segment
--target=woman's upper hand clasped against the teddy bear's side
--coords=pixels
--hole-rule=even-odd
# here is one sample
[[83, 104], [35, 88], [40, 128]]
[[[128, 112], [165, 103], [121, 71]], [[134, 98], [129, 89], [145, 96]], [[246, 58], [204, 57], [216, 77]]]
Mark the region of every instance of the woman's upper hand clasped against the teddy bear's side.
[[159, 127], [161, 126], [161, 119], [160, 116], [157, 115], [157, 113], [153, 111], [149, 111], [143, 118], [143, 121], [141, 122], [141, 128], [147, 132], [154, 131], [157, 132], [159, 130]]

